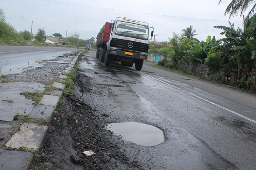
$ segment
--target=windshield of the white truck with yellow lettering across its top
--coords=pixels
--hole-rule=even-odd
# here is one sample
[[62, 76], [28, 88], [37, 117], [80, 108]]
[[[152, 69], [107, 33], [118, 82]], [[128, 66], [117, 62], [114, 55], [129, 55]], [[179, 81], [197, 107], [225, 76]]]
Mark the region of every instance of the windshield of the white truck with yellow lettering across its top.
[[115, 34], [140, 40], [148, 40], [148, 26], [117, 21]]

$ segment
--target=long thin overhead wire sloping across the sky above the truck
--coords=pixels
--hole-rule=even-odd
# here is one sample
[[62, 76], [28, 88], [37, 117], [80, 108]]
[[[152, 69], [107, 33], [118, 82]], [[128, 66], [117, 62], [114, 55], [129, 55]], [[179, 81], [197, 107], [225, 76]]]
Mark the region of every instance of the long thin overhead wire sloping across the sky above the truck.
[[[101, 7], [95, 7], [95, 6], [85, 6], [85, 5], [79, 5], [79, 4], [73, 4], [73, 3], [58, 2], [58, 1], [53, 1], [53, 0], [43, 0], [43, 1], [52, 2], [52, 3], [61, 3], [61, 4], [65, 4], [65, 5], [72, 5], [72, 6], [89, 7], [89, 8], [97, 8], [97, 9], [104, 9], [104, 10], [131, 13], [131, 11], [123, 11], [123, 10], [111, 9], [111, 8], [101, 8]], [[143, 13], [143, 12], [133, 12], [133, 13], [155, 15], [155, 16], [162, 16], [162, 17], [175, 17], [175, 18], [191, 19], [191, 20], [217, 21], [217, 22], [226, 22], [226, 23], [228, 22], [228, 21], [221, 21], [221, 20], [209, 20], [209, 19], [202, 19], [202, 18], [178, 17], [178, 16], [172, 16], [172, 15], [151, 14], [151, 13]], [[239, 22], [232, 22], [232, 23], [239, 23]]]

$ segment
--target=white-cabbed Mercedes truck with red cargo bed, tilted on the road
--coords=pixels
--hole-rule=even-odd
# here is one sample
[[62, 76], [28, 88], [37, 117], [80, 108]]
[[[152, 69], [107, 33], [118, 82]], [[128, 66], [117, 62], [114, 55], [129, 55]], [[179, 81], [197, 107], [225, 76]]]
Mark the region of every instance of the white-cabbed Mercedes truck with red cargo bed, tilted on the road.
[[154, 28], [150, 28], [148, 23], [125, 17], [116, 17], [111, 23], [106, 22], [97, 36], [96, 58], [107, 66], [111, 61], [129, 67], [135, 64], [135, 69], [140, 71], [143, 61], [148, 57], [149, 38], [152, 39], [154, 34]]

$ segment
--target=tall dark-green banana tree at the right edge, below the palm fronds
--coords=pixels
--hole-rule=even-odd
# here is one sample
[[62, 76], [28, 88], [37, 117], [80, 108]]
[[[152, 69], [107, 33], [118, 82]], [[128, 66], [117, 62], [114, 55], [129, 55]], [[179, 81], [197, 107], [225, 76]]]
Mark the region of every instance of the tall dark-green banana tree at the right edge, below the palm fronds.
[[[223, 29], [226, 38], [223, 38], [219, 41], [224, 42], [223, 45], [218, 46], [217, 48], [228, 51], [227, 57], [229, 60], [236, 60], [236, 67], [238, 69], [238, 82], [247, 81], [250, 77], [250, 72], [256, 70], [255, 62], [255, 51], [253, 47], [253, 42], [255, 42], [255, 28], [256, 28], [256, 19], [252, 17], [252, 20], [247, 20], [244, 23], [244, 28], [234, 29], [234, 26], [214, 26], [215, 28]], [[253, 34], [254, 33], [254, 34]], [[254, 43], [255, 45], [255, 43]], [[255, 59], [255, 60], [253, 60]], [[241, 85], [241, 83], [238, 84]], [[242, 88], [242, 87], [241, 87]]]

